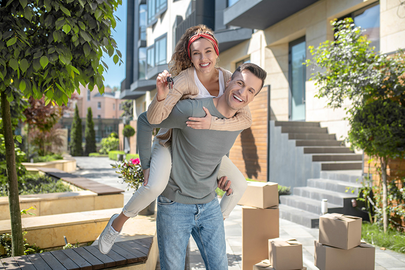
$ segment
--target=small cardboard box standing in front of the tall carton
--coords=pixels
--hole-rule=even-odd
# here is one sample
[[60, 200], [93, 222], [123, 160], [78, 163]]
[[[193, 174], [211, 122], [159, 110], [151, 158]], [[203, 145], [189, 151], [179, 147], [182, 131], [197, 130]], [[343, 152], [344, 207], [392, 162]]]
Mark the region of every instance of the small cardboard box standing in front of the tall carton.
[[302, 244], [295, 239], [269, 239], [269, 261], [276, 270], [301, 269]]

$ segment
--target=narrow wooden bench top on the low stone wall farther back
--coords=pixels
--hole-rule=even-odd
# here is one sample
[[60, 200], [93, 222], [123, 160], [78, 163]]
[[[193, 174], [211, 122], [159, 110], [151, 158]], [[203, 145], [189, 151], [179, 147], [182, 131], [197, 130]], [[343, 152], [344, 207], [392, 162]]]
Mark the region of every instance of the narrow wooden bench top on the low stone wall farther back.
[[80, 177], [71, 173], [64, 172], [55, 168], [38, 168], [39, 171], [46, 173], [52, 177], [62, 179], [65, 182], [68, 182], [77, 187], [87, 189], [97, 193], [98, 195], [111, 195], [111, 194], [120, 194], [124, 192], [123, 189], [115, 188], [109, 185], [105, 185], [85, 177]]

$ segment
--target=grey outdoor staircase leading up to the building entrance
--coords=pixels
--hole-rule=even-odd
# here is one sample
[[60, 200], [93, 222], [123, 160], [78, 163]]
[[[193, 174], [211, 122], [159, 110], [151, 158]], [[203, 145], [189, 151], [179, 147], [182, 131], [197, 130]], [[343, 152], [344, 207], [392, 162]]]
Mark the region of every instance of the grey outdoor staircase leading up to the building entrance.
[[280, 196], [280, 217], [317, 227], [322, 199], [328, 199], [330, 213], [361, 214], [351, 206], [351, 199], [361, 187], [357, 179], [362, 175], [362, 155], [345, 147], [319, 123], [276, 121], [274, 125], [281, 127], [281, 133], [288, 133], [296, 147], [303, 148], [304, 156], [312, 157], [312, 168], [320, 168], [319, 173], [313, 173], [319, 178], [306, 179], [306, 186], [296, 186], [292, 195]]

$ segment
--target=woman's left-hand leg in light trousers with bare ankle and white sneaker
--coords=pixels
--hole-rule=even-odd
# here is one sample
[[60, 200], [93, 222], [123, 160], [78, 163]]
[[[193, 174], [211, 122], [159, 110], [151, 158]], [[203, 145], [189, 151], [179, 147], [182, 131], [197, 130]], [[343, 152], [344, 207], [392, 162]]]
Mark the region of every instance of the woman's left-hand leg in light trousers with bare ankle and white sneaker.
[[[159, 144], [158, 139], [153, 140], [152, 156], [150, 160], [149, 181], [146, 186], [141, 185], [124, 206], [118, 215], [114, 214], [99, 238], [99, 249], [106, 254], [118, 236], [124, 223], [146, 208], [165, 190], [172, 170], [171, 146], [165, 147]], [[113, 230], [110, 230], [112, 227]]]

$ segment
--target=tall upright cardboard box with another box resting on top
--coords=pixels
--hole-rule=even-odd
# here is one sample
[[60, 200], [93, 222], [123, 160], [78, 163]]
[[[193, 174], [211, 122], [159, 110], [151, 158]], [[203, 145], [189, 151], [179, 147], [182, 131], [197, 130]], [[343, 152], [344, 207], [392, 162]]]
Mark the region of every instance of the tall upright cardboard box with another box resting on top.
[[268, 240], [279, 236], [278, 207], [242, 207], [242, 269], [268, 258]]

